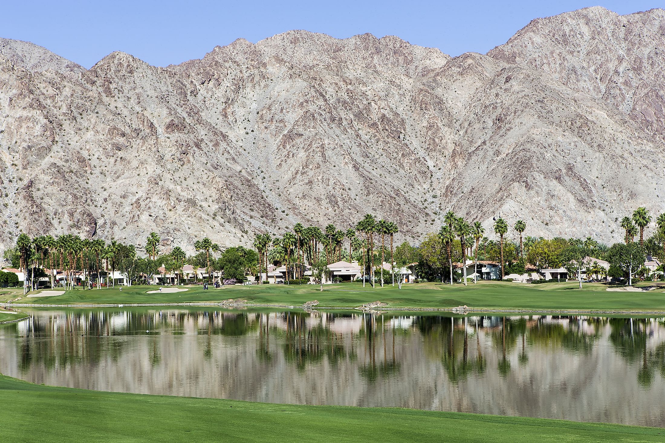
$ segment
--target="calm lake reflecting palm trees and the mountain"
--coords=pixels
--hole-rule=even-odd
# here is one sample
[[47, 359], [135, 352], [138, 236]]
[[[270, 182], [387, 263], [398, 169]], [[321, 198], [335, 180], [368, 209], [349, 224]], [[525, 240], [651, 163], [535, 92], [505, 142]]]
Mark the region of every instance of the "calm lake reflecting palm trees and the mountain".
[[403, 406], [665, 426], [665, 319], [33, 311], [0, 372], [259, 402]]

